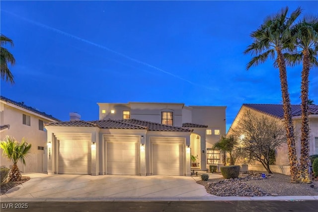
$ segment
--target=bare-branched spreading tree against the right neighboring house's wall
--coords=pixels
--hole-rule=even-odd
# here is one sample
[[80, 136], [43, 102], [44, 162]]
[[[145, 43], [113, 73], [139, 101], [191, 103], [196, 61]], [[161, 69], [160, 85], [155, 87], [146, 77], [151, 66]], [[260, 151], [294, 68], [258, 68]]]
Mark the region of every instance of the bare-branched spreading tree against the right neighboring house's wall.
[[246, 111], [234, 129], [234, 136], [239, 140], [240, 156], [260, 162], [268, 173], [273, 162], [273, 152], [286, 142], [284, 126], [276, 119], [267, 116], [256, 117]]

